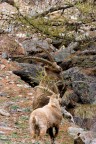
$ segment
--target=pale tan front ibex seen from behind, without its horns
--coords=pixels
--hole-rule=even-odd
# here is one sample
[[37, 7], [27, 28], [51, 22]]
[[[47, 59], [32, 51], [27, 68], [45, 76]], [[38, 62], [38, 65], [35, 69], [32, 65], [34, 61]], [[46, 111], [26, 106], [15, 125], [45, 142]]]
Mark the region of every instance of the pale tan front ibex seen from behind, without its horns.
[[[42, 137], [48, 132], [53, 144], [54, 138], [58, 134], [61, 120], [62, 113], [59, 101], [56, 98], [56, 94], [53, 94], [46, 106], [34, 110], [30, 115], [29, 125], [32, 137], [34, 138], [38, 135]], [[55, 134], [53, 134], [53, 127], [55, 127]]]

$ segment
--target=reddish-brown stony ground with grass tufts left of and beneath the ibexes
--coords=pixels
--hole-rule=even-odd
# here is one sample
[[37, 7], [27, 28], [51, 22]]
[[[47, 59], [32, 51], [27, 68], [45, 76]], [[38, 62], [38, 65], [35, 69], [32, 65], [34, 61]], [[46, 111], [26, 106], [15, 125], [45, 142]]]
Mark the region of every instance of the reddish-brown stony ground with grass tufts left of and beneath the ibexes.
[[[16, 62], [0, 55], [0, 144], [30, 144], [29, 116], [32, 111], [34, 89], [12, 73], [20, 69]], [[57, 143], [70, 144], [73, 139], [67, 133], [70, 123], [62, 121]], [[41, 143], [49, 143], [46, 135]]]

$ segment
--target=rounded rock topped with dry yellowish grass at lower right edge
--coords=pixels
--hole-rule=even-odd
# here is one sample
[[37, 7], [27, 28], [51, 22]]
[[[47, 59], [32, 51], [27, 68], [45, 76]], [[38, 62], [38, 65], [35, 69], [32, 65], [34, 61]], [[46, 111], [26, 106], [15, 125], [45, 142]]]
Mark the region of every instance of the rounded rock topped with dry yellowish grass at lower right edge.
[[96, 131], [96, 105], [79, 105], [73, 113], [77, 125], [87, 130]]

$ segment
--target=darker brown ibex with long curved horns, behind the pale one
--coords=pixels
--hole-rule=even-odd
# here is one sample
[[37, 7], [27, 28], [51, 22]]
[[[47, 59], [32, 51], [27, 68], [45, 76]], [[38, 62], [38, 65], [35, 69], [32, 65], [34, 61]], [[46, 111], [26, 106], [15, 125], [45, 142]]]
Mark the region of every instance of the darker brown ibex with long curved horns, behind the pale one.
[[[43, 79], [41, 79], [39, 86], [46, 87], [53, 91], [55, 94], [59, 94], [57, 83], [61, 79], [60, 72], [62, 69], [54, 61], [51, 54], [47, 50], [44, 51], [47, 53], [49, 60], [40, 57], [30, 57], [36, 62], [43, 62], [44, 64], [46, 64], [46, 66], [44, 66], [44, 76]], [[48, 104], [49, 98], [47, 96], [49, 94], [49, 91], [44, 91], [44, 89], [40, 89], [37, 87], [34, 94], [35, 97], [33, 100], [33, 110]]]

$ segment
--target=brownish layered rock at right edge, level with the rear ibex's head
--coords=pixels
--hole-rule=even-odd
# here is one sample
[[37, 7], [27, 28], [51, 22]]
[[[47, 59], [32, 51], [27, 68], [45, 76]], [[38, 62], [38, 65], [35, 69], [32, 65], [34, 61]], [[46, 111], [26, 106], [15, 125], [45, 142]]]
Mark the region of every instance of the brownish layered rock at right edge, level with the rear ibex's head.
[[69, 55], [67, 59], [60, 59], [61, 67], [64, 70], [67, 70], [70, 67], [82, 67], [82, 68], [94, 68], [96, 67], [96, 54], [95, 51], [88, 51], [88, 55], [82, 55], [82, 53], [87, 53], [86, 51], [82, 51], [81, 54], [77, 53], [77, 55]]

